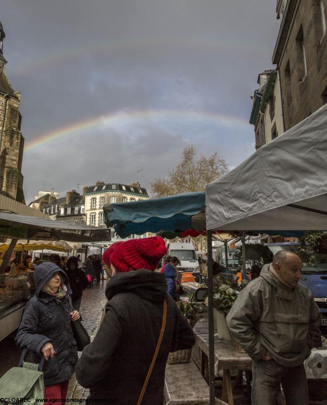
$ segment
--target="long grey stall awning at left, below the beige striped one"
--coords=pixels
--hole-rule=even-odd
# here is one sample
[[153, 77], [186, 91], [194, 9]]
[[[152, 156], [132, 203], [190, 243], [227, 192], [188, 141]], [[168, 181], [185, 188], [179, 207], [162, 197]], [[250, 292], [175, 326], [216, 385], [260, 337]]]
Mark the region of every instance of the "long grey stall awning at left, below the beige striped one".
[[110, 240], [107, 229], [0, 212], [0, 235], [33, 240], [97, 242]]

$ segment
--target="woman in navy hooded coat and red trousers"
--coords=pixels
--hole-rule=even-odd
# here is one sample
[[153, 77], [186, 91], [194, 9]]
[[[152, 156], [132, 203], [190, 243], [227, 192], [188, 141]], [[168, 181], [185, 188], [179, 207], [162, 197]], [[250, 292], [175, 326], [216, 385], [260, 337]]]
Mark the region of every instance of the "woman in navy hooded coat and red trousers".
[[55, 263], [46, 262], [34, 271], [35, 295], [27, 303], [16, 343], [33, 352], [33, 360], [44, 356], [44, 398], [66, 398], [68, 382], [77, 363], [76, 340], [71, 321], [79, 319], [70, 311], [71, 289], [66, 273]]

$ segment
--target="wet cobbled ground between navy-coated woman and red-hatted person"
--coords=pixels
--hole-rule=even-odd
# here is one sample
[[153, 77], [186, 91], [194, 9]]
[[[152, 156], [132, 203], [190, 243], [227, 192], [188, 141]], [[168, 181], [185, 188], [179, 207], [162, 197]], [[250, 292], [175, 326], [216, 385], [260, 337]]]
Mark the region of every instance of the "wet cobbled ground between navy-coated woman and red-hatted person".
[[[80, 314], [83, 319], [83, 325], [90, 335], [91, 341], [97, 334], [99, 322], [102, 316], [102, 309], [105, 307], [107, 298], [105, 296], [106, 281], [96, 284], [91, 289], [83, 291]], [[81, 352], [78, 352], [81, 355]], [[80, 386], [76, 380], [75, 374], [69, 381], [67, 398], [86, 399], [89, 390]]]

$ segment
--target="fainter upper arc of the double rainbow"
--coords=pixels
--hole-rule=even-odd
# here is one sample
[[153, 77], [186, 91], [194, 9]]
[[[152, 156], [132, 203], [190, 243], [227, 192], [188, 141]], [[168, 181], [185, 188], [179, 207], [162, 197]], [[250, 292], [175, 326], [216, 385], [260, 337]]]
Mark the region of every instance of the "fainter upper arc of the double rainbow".
[[[42, 57], [32, 59], [19, 60], [16, 67], [11, 67], [8, 64], [7, 72], [9, 77], [23, 76], [26, 73], [34, 72], [40, 69], [50, 69], [54, 66], [67, 63], [68, 60], [74, 60], [77, 58], [97, 56], [112, 56], [113, 53], [119, 52], [139, 52], [142, 50], [151, 49], [153, 47], [168, 49], [190, 50], [192, 52], [203, 52], [210, 54], [217, 54], [219, 52], [237, 52], [238, 54], [245, 54], [247, 57], [252, 55], [261, 56], [265, 49], [253, 48], [248, 43], [226, 42], [225, 39], [218, 37], [207, 38], [206, 41], [182, 41], [181, 39], [174, 39], [174, 41], [168, 41], [167, 39], [128, 39], [102, 43], [88, 44], [87, 46], [81, 45], [74, 48], [66, 48], [60, 50], [51, 49], [51, 53], [48, 55], [42, 54]], [[21, 57], [20, 57], [21, 58]]]

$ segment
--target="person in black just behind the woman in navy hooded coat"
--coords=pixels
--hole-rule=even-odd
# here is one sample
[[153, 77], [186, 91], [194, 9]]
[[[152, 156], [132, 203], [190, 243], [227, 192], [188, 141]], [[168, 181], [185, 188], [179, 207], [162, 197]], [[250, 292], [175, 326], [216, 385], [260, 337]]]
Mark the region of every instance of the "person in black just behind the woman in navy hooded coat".
[[76, 257], [72, 256], [68, 259], [66, 273], [72, 290], [73, 308], [79, 311], [83, 290], [88, 286], [88, 281], [84, 271], [78, 268]]

